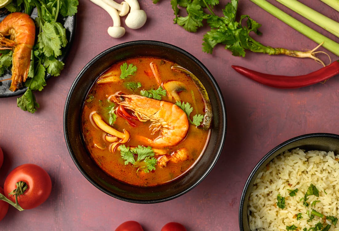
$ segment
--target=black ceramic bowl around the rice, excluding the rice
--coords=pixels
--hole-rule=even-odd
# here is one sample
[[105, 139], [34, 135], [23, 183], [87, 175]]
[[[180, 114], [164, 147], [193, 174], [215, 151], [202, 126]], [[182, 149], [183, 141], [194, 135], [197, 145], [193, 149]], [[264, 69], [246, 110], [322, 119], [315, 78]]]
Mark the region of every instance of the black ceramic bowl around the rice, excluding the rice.
[[271, 160], [273, 160], [274, 157], [278, 156], [279, 154], [287, 150], [292, 150], [295, 148], [300, 148], [306, 151], [311, 150], [320, 150], [326, 152], [333, 151], [335, 155], [338, 155], [339, 135], [329, 133], [312, 133], [301, 135], [281, 143], [280, 145], [272, 149], [270, 152], [268, 152], [254, 167], [242, 191], [239, 206], [240, 231], [250, 231], [247, 216], [248, 197], [252, 192], [253, 184], [258, 174], [264, 168], [266, 168], [266, 165]]

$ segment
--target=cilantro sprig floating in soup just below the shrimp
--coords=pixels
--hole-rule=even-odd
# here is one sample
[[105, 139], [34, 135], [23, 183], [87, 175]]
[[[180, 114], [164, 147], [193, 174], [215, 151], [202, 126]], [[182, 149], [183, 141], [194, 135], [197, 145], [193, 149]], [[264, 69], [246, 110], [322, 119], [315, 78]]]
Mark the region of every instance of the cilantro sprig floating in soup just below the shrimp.
[[119, 149], [125, 165], [131, 163], [134, 167], [138, 168], [137, 171], [142, 169], [146, 173], [155, 170], [157, 159], [154, 158], [152, 147], [138, 145], [138, 147], [130, 148], [120, 145]]

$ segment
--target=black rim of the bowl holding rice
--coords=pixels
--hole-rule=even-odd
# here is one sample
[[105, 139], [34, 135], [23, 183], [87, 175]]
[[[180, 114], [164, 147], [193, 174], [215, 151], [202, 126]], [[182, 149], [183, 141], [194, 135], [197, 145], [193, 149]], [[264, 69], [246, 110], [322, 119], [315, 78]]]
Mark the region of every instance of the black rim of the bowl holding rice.
[[[305, 139], [305, 138], [311, 138], [311, 137], [328, 137], [328, 138], [335, 138], [335, 139], [339, 139], [339, 135], [337, 134], [333, 134], [333, 133], [310, 133], [310, 134], [304, 134], [304, 135], [300, 135], [300, 136], [296, 136], [294, 138], [288, 139], [285, 142], [281, 143], [280, 145], [276, 146], [274, 149], [272, 149], [270, 152], [268, 152], [258, 163], [257, 165], [253, 168], [252, 172], [250, 173], [250, 175], [248, 176], [245, 186], [242, 190], [241, 193], [241, 197], [240, 197], [240, 204], [239, 204], [239, 228], [241, 231], [244, 230], [244, 226], [243, 226], [243, 220], [242, 220], [242, 210], [245, 209], [243, 207], [244, 204], [244, 200], [245, 200], [245, 194], [246, 191], [248, 189], [248, 186], [250, 186], [250, 182], [253, 178], [253, 176], [255, 175], [255, 173], [258, 171], [258, 169], [260, 168], [260, 166], [262, 165], [262, 163], [264, 163], [268, 158], [271, 157], [271, 155], [273, 153], [275, 153], [276, 151], [278, 151], [279, 149], [281, 149], [282, 147], [285, 147], [286, 145], [301, 140], [301, 139]], [[279, 155], [279, 154], [278, 154]]]

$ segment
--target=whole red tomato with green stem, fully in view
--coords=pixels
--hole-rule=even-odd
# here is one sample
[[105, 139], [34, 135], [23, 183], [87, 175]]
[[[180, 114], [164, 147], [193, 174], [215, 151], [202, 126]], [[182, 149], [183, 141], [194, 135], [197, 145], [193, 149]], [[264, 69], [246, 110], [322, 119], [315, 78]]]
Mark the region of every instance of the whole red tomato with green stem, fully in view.
[[23, 195], [18, 197], [18, 203], [23, 209], [33, 209], [41, 205], [51, 194], [52, 181], [48, 173], [41, 167], [32, 163], [20, 165], [12, 170], [5, 179], [5, 196], [15, 203], [15, 196], [8, 193], [15, 190], [16, 183], [24, 181], [27, 189]]

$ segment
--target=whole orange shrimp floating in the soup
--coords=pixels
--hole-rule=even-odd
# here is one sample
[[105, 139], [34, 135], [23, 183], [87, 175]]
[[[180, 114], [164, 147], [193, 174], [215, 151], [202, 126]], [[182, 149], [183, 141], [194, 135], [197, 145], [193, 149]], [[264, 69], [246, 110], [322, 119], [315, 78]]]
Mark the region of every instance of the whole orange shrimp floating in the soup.
[[174, 146], [187, 134], [187, 115], [173, 103], [140, 95], [114, 94], [108, 99], [133, 111], [139, 121], [152, 121], [149, 126], [151, 134], [160, 131], [159, 136], [153, 140], [142, 137], [152, 147]]

